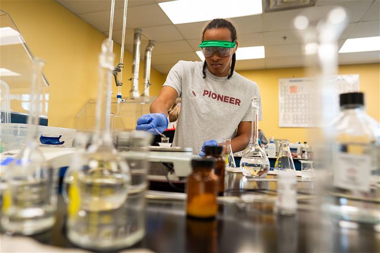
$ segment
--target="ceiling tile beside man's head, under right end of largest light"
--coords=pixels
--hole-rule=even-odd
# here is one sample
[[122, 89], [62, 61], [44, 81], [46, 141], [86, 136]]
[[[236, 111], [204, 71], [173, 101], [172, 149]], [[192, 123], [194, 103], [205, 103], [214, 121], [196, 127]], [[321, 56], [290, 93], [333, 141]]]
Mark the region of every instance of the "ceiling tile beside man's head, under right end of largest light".
[[231, 18], [239, 34], [255, 33], [262, 31], [262, 15]]

